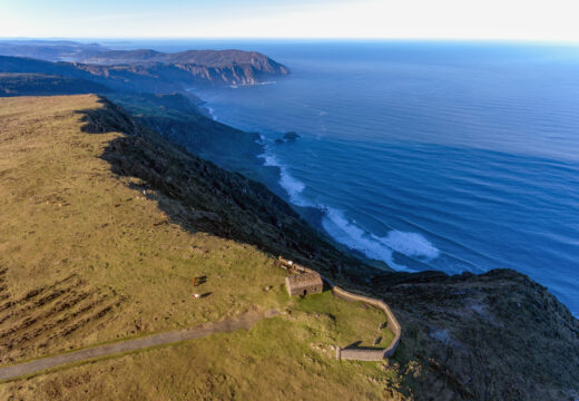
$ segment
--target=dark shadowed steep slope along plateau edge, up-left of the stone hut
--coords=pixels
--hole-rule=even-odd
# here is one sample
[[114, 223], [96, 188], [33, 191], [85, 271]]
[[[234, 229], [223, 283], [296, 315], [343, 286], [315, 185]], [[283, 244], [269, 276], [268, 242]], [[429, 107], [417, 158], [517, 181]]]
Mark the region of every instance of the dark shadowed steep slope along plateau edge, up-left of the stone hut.
[[82, 130], [125, 134], [109, 143], [102, 158], [112, 173], [140, 178], [130, 187], [155, 199], [167, 223], [255, 245], [335, 280], [341, 278], [338, 271], [353, 281], [367, 274], [357, 260], [325, 242], [263, 184], [187, 153], [105, 98], [99, 102], [102, 107], [79, 111]]

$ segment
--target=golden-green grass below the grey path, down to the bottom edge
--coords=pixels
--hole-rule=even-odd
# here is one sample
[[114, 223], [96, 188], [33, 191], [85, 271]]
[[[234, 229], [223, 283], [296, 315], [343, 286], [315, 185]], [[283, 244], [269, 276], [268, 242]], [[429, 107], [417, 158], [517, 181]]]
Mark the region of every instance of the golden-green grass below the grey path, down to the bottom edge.
[[14, 390], [37, 400], [389, 399], [398, 380], [393, 371], [382, 363], [336, 361], [323, 341], [310, 322], [275, 317], [249, 332], [75, 366], [24, 387], [8, 383], [0, 397]]

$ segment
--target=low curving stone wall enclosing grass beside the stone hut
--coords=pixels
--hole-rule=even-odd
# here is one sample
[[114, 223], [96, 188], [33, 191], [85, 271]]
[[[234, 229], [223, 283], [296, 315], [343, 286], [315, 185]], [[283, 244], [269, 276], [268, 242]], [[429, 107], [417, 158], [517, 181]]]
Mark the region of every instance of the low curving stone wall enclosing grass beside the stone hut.
[[[293, 263], [292, 261], [284, 260], [283, 257], [279, 257], [279, 262], [296, 272], [316, 273], [315, 271], [313, 271], [311, 268], [307, 268], [305, 266]], [[336, 346], [336, 359], [356, 360], [356, 361], [381, 361], [385, 358], [391, 358], [392, 355], [394, 355], [394, 352], [396, 351], [399, 343], [400, 343], [402, 327], [400, 326], [400, 323], [398, 322], [396, 316], [394, 316], [394, 313], [392, 312], [390, 306], [384, 301], [371, 299], [369, 296], [363, 296], [363, 295], [359, 295], [359, 294], [354, 294], [349, 291], [345, 291], [344, 288], [341, 288], [337, 285], [334, 285], [334, 283], [332, 283], [331, 280], [324, 277], [323, 275], [322, 275], [322, 280], [324, 280], [330, 285], [334, 295], [336, 295], [341, 299], [344, 299], [344, 300], [349, 300], [349, 301], [363, 302], [371, 306], [377, 307], [379, 310], [384, 312], [384, 314], [386, 315], [386, 319], [387, 319], [387, 327], [394, 334], [394, 339], [392, 339], [392, 342], [385, 349], [363, 348], [363, 346], [342, 349], [340, 346]]]

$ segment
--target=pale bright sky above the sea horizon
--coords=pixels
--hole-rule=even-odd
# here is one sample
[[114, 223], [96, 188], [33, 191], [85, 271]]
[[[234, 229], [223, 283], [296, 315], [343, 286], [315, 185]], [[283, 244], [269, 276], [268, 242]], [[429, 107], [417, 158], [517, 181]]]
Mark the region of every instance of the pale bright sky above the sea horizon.
[[0, 0], [0, 37], [579, 42], [579, 0]]

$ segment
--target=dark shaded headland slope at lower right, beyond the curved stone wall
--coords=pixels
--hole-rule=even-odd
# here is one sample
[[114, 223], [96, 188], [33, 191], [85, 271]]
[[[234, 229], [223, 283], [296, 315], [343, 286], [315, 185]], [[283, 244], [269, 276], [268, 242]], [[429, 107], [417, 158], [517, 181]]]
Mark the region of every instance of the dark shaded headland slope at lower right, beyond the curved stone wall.
[[413, 399], [579, 397], [579, 321], [523, 274], [384, 273], [360, 291], [396, 313], [395, 359]]

